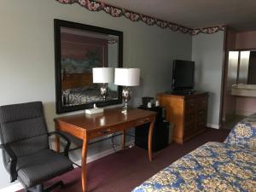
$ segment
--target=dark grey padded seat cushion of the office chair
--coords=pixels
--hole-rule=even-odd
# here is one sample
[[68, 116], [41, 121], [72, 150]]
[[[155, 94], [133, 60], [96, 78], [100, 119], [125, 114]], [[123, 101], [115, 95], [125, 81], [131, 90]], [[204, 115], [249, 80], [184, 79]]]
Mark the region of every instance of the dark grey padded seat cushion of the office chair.
[[51, 149], [20, 157], [17, 162], [18, 179], [25, 188], [44, 183], [50, 178], [73, 169], [73, 163]]

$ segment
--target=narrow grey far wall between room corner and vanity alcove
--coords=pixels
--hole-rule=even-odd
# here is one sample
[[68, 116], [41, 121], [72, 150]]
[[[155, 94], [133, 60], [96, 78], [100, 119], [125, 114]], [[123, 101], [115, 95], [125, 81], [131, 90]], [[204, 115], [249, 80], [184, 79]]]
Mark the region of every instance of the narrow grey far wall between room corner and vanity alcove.
[[199, 34], [192, 38], [195, 90], [209, 92], [207, 125], [215, 128], [219, 126], [223, 57], [224, 32]]

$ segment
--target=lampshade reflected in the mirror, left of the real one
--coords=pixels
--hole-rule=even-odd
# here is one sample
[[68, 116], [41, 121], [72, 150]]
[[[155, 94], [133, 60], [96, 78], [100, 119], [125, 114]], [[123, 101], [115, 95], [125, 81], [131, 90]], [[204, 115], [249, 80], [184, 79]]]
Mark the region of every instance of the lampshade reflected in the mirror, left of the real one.
[[95, 67], [92, 68], [93, 83], [107, 84], [113, 82], [112, 67]]

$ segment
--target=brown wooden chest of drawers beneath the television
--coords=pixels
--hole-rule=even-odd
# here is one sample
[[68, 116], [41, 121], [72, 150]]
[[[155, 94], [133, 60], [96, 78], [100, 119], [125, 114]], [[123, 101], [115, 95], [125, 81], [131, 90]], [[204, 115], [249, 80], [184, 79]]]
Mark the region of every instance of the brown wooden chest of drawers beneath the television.
[[207, 92], [192, 95], [158, 94], [160, 106], [166, 109], [166, 120], [173, 123], [172, 139], [184, 143], [206, 130]]

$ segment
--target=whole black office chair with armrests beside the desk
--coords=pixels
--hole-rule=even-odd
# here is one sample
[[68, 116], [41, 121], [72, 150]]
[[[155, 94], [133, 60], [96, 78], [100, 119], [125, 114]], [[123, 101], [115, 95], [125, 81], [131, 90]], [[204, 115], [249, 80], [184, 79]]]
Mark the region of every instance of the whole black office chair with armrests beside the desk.
[[[64, 154], [49, 148], [49, 136], [57, 135], [66, 140]], [[0, 107], [0, 138], [3, 163], [10, 174], [27, 192], [48, 192], [60, 181], [47, 188], [44, 182], [73, 170], [68, 159], [69, 139], [60, 132], [47, 132], [42, 102], [28, 102]]]

